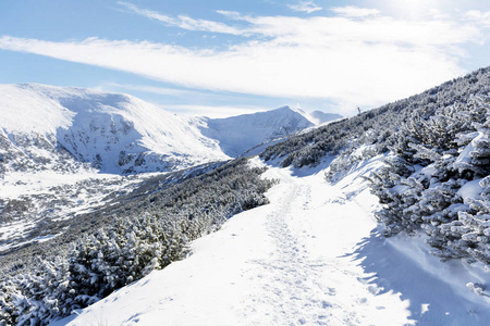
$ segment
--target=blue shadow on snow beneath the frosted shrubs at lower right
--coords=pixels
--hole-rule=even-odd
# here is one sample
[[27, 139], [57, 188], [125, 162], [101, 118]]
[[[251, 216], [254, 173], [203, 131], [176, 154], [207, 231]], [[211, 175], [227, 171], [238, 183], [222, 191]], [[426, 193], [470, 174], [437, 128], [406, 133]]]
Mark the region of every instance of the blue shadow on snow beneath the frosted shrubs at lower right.
[[378, 229], [344, 256], [370, 274], [359, 281], [371, 286], [373, 293], [400, 293], [407, 300], [409, 319], [416, 325], [483, 325], [490, 317], [483, 306], [457, 296], [446, 283], [393, 248]]

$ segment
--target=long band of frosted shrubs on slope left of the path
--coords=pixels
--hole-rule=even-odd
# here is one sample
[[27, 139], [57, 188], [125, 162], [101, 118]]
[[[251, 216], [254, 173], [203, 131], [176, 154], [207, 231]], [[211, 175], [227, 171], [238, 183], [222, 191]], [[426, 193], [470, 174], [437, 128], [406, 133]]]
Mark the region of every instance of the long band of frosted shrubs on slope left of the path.
[[0, 325], [45, 325], [182, 259], [188, 241], [218, 229], [233, 214], [267, 203], [264, 192], [274, 181], [261, 179], [264, 171], [246, 159], [235, 160], [114, 211], [109, 208], [118, 214], [73, 241], [66, 253], [60, 250], [5, 273]]

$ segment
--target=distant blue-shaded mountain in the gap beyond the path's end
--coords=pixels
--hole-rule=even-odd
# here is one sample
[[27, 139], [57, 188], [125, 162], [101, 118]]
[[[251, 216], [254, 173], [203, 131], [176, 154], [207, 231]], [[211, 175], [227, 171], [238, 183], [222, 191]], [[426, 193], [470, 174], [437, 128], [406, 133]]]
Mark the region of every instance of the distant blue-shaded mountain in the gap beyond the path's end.
[[291, 106], [226, 118], [204, 117], [195, 123], [203, 135], [218, 140], [221, 150], [233, 158], [265, 141], [314, 126], [304, 114]]

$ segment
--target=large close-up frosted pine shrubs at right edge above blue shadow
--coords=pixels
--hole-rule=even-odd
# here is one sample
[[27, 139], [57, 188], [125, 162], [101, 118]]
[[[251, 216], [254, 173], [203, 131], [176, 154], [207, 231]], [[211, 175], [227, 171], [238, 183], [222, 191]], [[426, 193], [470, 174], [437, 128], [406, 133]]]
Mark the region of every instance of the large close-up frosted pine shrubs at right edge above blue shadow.
[[388, 164], [371, 178], [383, 204], [377, 217], [387, 236], [421, 228], [434, 255], [489, 265], [490, 98], [421, 118], [425, 111], [394, 135], [392, 160], [404, 160], [406, 171]]

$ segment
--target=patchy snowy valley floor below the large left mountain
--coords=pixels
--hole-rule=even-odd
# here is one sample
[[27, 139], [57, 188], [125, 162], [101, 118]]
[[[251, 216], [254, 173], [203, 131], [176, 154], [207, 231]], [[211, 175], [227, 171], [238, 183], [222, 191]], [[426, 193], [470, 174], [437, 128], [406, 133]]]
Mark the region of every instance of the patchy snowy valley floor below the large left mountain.
[[120, 176], [96, 171], [63, 174], [49, 170], [3, 175], [0, 178], [0, 200], [27, 201], [33, 206], [25, 216], [19, 213], [12, 221], [0, 222], [0, 253], [29, 242], [46, 241], [26, 236], [45, 220], [71, 218], [105, 205], [109, 193], [131, 191], [148, 175]]

